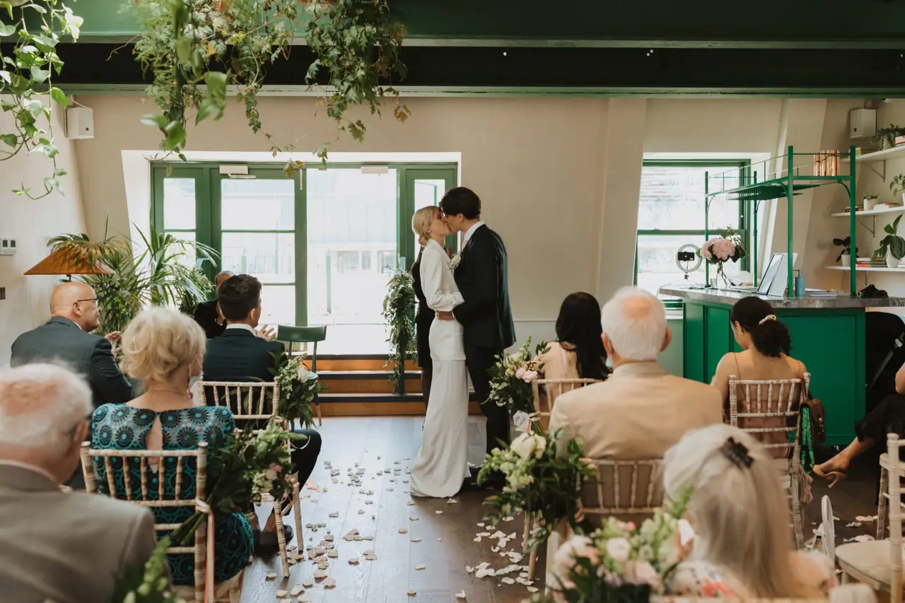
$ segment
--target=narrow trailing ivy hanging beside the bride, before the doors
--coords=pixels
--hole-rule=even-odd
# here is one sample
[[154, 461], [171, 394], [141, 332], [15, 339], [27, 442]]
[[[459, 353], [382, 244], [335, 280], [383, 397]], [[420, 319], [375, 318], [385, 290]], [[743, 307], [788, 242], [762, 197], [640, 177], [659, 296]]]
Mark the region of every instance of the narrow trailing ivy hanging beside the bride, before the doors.
[[412, 275], [404, 270], [395, 270], [386, 283], [383, 316], [389, 328], [389, 381], [394, 383], [395, 394], [405, 390], [405, 360], [414, 358], [414, 282]]

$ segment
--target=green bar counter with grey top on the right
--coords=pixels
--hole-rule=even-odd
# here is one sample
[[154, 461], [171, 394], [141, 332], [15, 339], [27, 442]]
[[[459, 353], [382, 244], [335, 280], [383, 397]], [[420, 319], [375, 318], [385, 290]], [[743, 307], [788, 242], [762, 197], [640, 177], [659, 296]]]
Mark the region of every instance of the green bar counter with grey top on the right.
[[[691, 287], [663, 287], [660, 292], [683, 302], [685, 378], [710, 383], [719, 359], [729, 351], [741, 350], [732, 337], [729, 311], [750, 294]], [[864, 314], [868, 308], [903, 307], [905, 298], [758, 297], [786, 323], [792, 338], [791, 355], [811, 373], [811, 395], [820, 398], [826, 410], [825, 444], [849, 444], [855, 421], [864, 416]]]

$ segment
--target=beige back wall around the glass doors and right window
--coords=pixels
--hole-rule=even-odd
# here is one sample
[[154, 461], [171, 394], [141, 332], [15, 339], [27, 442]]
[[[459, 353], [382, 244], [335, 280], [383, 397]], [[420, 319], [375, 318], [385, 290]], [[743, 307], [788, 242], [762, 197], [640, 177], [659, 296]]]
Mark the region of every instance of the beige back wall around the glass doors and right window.
[[[96, 136], [76, 143], [88, 232], [100, 237], [108, 217], [111, 234], [129, 232], [130, 223], [145, 223], [148, 215], [145, 207], [129, 213], [122, 151], [157, 148], [157, 130], [138, 121], [154, 107], [140, 96], [84, 96], [80, 101], [94, 109]], [[790, 143], [808, 150], [842, 148], [835, 139], [847, 132], [845, 112], [853, 104], [780, 99], [466, 98], [414, 98], [406, 103], [412, 110], [407, 123], [363, 116], [368, 128], [365, 142], [343, 137], [334, 150], [462, 154], [462, 185], [481, 195], [485, 219], [509, 247], [510, 293], [520, 340], [528, 334], [548, 338], [559, 303], [568, 292], [594, 292], [603, 301], [631, 283], [643, 153], [774, 155], [777, 149], [785, 152]], [[274, 132], [279, 144], [295, 141], [297, 147], [308, 150], [333, 138], [331, 122], [323, 115], [314, 117], [313, 99], [264, 97], [259, 109], [264, 129]], [[905, 112], [901, 121], [905, 122]], [[262, 136], [252, 135], [237, 106], [227, 110], [224, 120], [190, 129], [188, 141], [189, 150], [196, 151], [269, 149]], [[0, 175], [32, 171], [31, 163], [27, 167], [0, 164], [4, 169], [10, 171]], [[905, 164], [900, 169], [905, 170]], [[77, 177], [68, 177], [69, 196], [47, 202], [42, 219], [23, 226], [40, 231], [30, 239], [42, 243], [46, 236], [81, 229], [78, 189], [73, 188], [77, 182]], [[823, 189], [817, 193], [824, 194], [829, 193]], [[0, 195], [8, 193], [0, 190]], [[804, 254], [801, 263], [809, 286], [839, 280], [838, 275], [818, 269], [831, 253], [824, 239], [833, 236], [824, 232], [832, 227], [821, 214], [830, 204], [817, 203], [819, 198], [815, 196], [811, 203], [809, 195], [795, 197], [795, 251]], [[25, 207], [22, 199], [14, 202]], [[5, 203], [2, 211], [10, 212], [9, 207]], [[784, 215], [784, 206], [776, 209]], [[812, 227], [817, 225], [820, 232]], [[15, 235], [24, 238], [18, 232]], [[780, 220], [766, 238], [770, 245], [785, 245], [785, 222]], [[768, 245], [765, 248], [768, 251]], [[24, 270], [42, 254], [43, 248], [35, 249], [34, 255], [40, 257], [26, 262], [20, 251], [14, 261], [27, 263]], [[0, 276], [5, 279], [10, 278], [6, 266], [11, 263], [0, 257]], [[17, 265], [12, 272], [22, 270]], [[46, 286], [35, 293], [42, 304], [45, 296]], [[16, 313], [27, 309], [30, 322], [42, 319], [43, 308], [33, 310], [33, 305], [17, 305]], [[8, 301], [0, 302], [4, 313], [13, 307]], [[4, 317], [0, 345], [6, 353], [4, 342], [28, 325], [0, 316]]]

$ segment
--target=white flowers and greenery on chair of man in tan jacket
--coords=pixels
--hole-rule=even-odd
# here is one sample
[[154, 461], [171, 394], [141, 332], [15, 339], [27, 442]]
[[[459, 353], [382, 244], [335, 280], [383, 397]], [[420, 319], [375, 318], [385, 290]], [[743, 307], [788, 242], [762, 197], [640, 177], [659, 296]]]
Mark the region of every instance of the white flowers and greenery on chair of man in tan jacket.
[[478, 483], [497, 472], [506, 478], [502, 492], [484, 501], [492, 507], [485, 518], [488, 522], [499, 523], [519, 511], [539, 515], [532, 548], [546, 542], [562, 520], [576, 528], [581, 506], [578, 475], [594, 475], [591, 465], [581, 460], [577, 440], [569, 441], [567, 458], [557, 456], [560, 436], [561, 430], [555, 436], [522, 434], [508, 448], [496, 448], [487, 455], [478, 474]]

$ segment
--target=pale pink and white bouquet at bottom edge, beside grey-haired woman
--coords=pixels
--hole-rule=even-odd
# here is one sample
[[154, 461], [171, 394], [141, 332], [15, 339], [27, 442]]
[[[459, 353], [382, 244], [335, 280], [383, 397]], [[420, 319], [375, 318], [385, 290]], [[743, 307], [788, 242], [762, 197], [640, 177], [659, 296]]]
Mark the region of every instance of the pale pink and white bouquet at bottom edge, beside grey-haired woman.
[[590, 536], [573, 536], [548, 561], [556, 581], [550, 593], [530, 603], [630, 603], [662, 593], [682, 557], [680, 518], [690, 499], [691, 487], [640, 527], [609, 517]]

